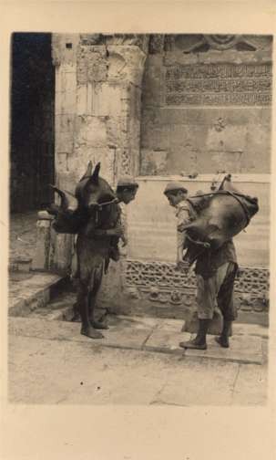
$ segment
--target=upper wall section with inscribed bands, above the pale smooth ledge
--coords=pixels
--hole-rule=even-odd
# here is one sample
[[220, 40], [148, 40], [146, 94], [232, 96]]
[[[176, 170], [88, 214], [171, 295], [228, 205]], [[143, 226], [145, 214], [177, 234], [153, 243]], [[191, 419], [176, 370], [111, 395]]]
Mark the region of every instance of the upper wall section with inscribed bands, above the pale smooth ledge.
[[272, 37], [179, 35], [161, 46], [155, 38], [141, 174], [270, 173], [271, 51]]

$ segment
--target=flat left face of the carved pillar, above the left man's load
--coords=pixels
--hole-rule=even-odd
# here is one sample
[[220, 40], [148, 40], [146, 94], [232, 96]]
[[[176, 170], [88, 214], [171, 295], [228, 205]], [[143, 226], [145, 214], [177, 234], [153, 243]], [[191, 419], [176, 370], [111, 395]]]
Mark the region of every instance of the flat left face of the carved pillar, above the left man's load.
[[114, 183], [116, 147], [108, 139], [109, 104], [116, 96], [107, 88], [107, 47], [82, 39], [77, 48], [77, 118], [74, 156], [68, 167], [80, 175], [87, 162], [101, 162], [101, 175]]

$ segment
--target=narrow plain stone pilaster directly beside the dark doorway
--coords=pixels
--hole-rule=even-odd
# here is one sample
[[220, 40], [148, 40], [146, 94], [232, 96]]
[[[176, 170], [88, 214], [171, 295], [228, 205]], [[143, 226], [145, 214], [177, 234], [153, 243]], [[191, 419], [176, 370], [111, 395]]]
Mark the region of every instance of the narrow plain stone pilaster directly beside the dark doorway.
[[[70, 168], [75, 155], [77, 118], [77, 46], [79, 35], [54, 34], [52, 58], [56, 67], [55, 99], [55, 171], [56, 185], [70, 192], [75, 191], [77, 172]], [[62, 273], [71, 263], [73, 238], [52, 232], [51, 267]]]

